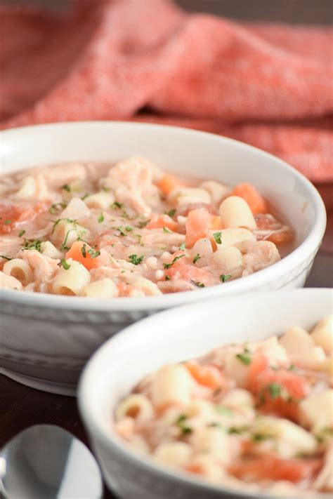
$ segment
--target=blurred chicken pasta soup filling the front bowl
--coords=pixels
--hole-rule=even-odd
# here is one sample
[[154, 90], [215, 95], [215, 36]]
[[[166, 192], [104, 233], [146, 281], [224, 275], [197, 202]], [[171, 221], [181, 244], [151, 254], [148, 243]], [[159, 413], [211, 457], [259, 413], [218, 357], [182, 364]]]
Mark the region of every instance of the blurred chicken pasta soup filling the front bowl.
[[311, 333], [226, 345], [162, 366], [115, 410], [115, 430], [160, 465], [296, 497], [333, 491], [333, 316]]

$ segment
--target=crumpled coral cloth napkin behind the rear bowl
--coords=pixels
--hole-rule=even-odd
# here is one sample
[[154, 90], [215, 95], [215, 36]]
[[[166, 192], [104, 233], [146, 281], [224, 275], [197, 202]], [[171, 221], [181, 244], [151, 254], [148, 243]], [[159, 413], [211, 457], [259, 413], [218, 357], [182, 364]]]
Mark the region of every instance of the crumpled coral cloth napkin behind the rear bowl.
[[0, 126], [120, 119], [244, 140], [333, 180], [332, 29], [245, 25], [169, 0], [0, 8]]

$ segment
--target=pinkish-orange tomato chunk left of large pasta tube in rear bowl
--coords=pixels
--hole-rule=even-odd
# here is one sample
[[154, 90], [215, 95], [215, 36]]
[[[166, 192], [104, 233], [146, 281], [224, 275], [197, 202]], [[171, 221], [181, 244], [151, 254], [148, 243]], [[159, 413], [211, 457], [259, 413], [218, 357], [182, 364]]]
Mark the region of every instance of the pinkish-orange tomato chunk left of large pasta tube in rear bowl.
[[186, 237], [185, 242], [188, 248], [202, 239], [202, 237], [209, 237], [211, 230], [218, 230], [222, 228], [221, 218], [211, 215], [205, 208], [198, 208], [188, 213], [186, 220]]

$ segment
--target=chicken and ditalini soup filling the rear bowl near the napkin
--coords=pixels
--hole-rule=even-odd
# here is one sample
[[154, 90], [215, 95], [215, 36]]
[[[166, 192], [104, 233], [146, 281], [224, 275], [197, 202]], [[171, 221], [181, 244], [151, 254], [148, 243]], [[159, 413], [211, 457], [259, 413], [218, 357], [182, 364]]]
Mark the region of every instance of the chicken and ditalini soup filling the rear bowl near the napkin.
[[293, 239], [254, 186], [178, 178], [141, 157], [2, 175], [0, 192], [3, 288], [192, 291], [272, 265]]

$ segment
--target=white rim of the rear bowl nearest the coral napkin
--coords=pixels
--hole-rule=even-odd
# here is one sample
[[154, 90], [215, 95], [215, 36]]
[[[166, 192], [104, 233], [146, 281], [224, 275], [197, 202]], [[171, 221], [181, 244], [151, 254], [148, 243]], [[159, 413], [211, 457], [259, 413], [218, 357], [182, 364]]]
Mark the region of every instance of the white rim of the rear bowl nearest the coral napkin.
[[[82, 298], [77, 296], [61, 296], [61, 295], [51, 295], [46, 293], [29, 293], [27, 291], [13, 291], [13, 290], [1, 290], [1, 299], [6, 302], [15, 302], [20, 305], [34, 305], [39, 307], [52, 307], [54, 309], [62, 310], [82, 310], [85, 311], [124, 311], [124, 310], [157, 310], [164, 309], [168, 307], [174, 307], [176, 305], [183, 305], [195, 300], [199, 297], [202, 300], [207, 300], [209, 298], [218, 298], [218, 296], [223, 295], [228, 291], [232, 294], [237, 291], [237, 293], [244, 293], [251, 289], [256, 288], [258, 285], [269, 283], [270, 281], [275, 281], [278, 279], [279, 275], [287, 274], [292, 272], [294, 267], [299, 265], [299, 262], [306, 260], [308, 256], [312, 255], [317, 251], [322, 237], [325, 233], [326, 227], [326, 211], [325, 206], [322, 202], [320, 194], [314, 185], [299, 171], [292, 166], [289, 166], [285, 161], [274, 157], [268, 152], [264, 152], [257, 147], [244, 144], [238, 140], [233, 140], [230, 138], [223, 137], [221, 135], [215, 135], [213, 133], [207, 133], [202, 131], [195, 131], [188, 128], [181, 128], [178, 126], [165, 126], [165, 125], [155, 125], [155, 124], [143, 124], [143, 123], [131, 123], [126, 121], [80, 121], [72, 123], [57, 123], [57, 124], [46, 124], [37, 126], [25, 126], [22, 128], [13, 128], [12, 130], [1, 132], [4, 136], [7, 134], [18, 134], [18, 137], [22, 133], [31, 133], [34, 129], [44, 128], [58, 128], [66, 127], [68, 128], [68, 133], [70, 133], [70, 128], [74, 127], [84, 127], [84, 126], [122, 126], [126, 127], [138, 127], [147, 128], [154, 130], [155, 128], [163, 128], [169, 131], [177, 131], [177, 133], [186, 133], [193, 136], [193, 140], [199, 135], [207, 135], [207, 137], [215, 140], [219, 140], [225, 143], [232, 143], [247, 150], [254, 150], [257, 154], [265, 156], [268, 161], [275, 161], [275, 164], [279, 165], [279, 168], [292, 173], [295, 178], [301, 182], [303, 187], [306, 188], [309, 200], [313, 203], [313, 208], [315, 211], [315, 219], [313, 221], [313, 227], [304, 241], [297, 246], [294, 251], [289, 253], [287, 256], [282, 258], [279, 262], [266, 267], [266, 269], [259, 270], [254, 274], [247, 277], [242, 277], [240, 279], [235, 279], [235, 281], [230, 281], [225, 284], [220, 284], [218, 286], [211, 286], [209, 288], [200, 288], [195, 291], [184, 291], [183, 293], [170, 293], [166, 295], [158, 296], [145, 296], [142, 298], [115, 298], [110, 299], [98, 299], [95, 298]], [[227, 286], [227, 288], [225, 287]], [[200, 295], [193, 295], [193, 293], [200, 293]]]

